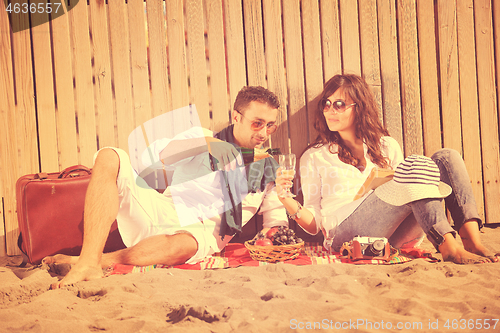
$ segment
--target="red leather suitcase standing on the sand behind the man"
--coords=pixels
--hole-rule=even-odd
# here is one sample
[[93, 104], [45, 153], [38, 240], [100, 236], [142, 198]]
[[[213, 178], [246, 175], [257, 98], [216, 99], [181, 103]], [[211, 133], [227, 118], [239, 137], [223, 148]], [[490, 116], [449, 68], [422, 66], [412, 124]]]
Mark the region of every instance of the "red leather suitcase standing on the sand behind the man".
[[[16, 183], [19, 248], [24, 261], [38, 265], [49, 255], [80, 254], [83, 241], [83, 205], [91, 170], [83, 165], [62, 172], [22, 176]], [[116, 221], [105, 252], [124, 248]]]

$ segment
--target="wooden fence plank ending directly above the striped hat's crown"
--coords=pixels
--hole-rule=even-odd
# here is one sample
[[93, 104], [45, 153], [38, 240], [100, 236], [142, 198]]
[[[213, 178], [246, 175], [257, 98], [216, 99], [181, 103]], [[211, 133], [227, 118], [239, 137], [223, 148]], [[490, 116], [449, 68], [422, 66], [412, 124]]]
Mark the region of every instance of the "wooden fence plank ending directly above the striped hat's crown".
[[407, 155], [422, 155], [424, 147], [422, 139], [422, 108], [420, 104], [415, 0], [401, 0], [397, 4], [404, 151]]

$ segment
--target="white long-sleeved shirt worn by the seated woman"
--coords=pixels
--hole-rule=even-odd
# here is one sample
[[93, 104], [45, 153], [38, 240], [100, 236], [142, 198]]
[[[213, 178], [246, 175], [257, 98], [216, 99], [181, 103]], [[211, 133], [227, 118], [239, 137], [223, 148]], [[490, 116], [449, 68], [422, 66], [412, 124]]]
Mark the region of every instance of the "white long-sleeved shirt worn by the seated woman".
[[[300, 158], [300, 180], [304, 194], [304, 207], [316, 220], [316, 232], [323, 231], [325, 242], [333, 239], [335, 229], [363, 202], [369, 193], [353, 201], [370, 171], [376, 165], [370, 160], [368, 148], [363, 145], [366, 168], [360, 171], [353, 165], [342, 162], [337, 146], [332, 152], [329, 146], [309, 148]], [[392, 169], [404, 160], [398, 142], [389, 137], [381, 138], [382, 155], [387, 157]], [[324, 217], [324, 218], [323, 218]]]

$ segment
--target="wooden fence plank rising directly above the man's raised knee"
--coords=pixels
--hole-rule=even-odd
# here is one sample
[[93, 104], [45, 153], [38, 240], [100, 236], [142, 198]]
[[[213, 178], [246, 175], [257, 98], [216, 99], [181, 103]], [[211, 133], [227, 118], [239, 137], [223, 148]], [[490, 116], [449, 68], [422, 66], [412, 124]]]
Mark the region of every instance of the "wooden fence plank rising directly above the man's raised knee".
[[112, 69], [109, 50], [108, 6], [104, 0], [89, 1], [90, 34], [92, 36], [92, 83], [98, 149], [118, 146], [116, 113], [111, 87]]

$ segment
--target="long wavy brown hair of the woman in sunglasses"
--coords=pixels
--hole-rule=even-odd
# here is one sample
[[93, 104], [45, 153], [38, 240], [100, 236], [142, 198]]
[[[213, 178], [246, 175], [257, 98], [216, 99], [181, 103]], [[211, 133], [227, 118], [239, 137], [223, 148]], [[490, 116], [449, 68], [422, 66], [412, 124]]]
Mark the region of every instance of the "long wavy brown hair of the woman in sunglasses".
[[328, 145], [329, 151], [335, 154], [334, 147], [337, 146], [339, 159], [342, 162], [356, 167], [359, 166], [361, 161], [353, 156], [351, 150], [340, 137], [340, 134], [332, 132], [328, 128], [321, 108], [321, 100], [330, 97], [340, 88], [345, 95], [352, 99], [353, 103], [356, 103], [353, 107], [353, 111], [355, 112], [356, 137], [363, 140], [367, 145], [368, 155], [374, 164], [381, 168], [389, 167], [387, 159], [382, 156], [380, 147], [380, 139], [382, 136], [389, 135], [389, 132], [380, 123], [378, 117], [379, 108], [372, 90], [362, 77], [354, 74], [335, 75], [325, 84], [320, 101], [316, 107], [316, 120], [314, 122], [314, 128], [319, 132], [319, 135], [308, 148], [319, 148]]

